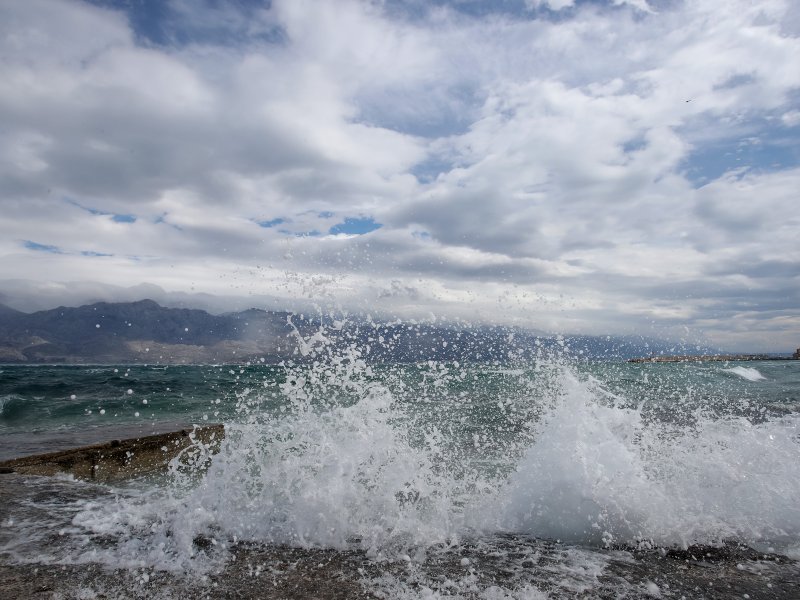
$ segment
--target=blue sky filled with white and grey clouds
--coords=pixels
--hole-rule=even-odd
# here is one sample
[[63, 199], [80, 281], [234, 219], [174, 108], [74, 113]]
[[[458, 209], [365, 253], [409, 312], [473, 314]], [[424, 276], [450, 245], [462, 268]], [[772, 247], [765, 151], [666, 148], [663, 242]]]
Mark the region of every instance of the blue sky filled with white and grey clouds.
[[800, 346], [795, 0], [0, 2], [0, 302]]

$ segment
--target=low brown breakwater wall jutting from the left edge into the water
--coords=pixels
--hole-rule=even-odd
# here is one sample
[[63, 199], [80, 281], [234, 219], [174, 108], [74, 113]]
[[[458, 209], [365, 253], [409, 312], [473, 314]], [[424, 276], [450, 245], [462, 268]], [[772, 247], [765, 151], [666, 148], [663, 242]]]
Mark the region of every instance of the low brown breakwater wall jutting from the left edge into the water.
[[[173, 458], [186, 454], [196, 445], [202, 444], [204, 448], [216, 452], [224, 437], [223, 425], [186, 428], [0, 461], [0, 473], [66, 473], [78, 479], [119, 481], [163, 471]], [[186, 458], [193, 459], [192, 456]]]

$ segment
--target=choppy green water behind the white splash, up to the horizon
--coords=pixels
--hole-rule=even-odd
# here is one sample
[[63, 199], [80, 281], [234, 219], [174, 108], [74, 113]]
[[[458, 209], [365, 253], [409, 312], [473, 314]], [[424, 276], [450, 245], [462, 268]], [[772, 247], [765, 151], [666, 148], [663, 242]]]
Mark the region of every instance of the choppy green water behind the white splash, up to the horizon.
[[[645, 418], [691, 424], [800, 412], [800, 362], [572, 362], [600, 397]], [[554, 390], [541, 364], [421, 363], [362, 369], [347, 385], [314, 366], [0, 366], [0, 457], [202, 423], [280, 418], [297, 385], [321, 404], [348, 404], [386, 385], [406, 414], [450, 424], [459, 437], [521, 435]], [[312, 376], [316, 375], [316, 376]], [[287, 377], [289, 381], [287, 383]], [[299, 383], [297, 380], [300, 380]], [[287, 387], [288, 386], [288, 387]], [[247, 408], [250, 407], [250, 408]], [[282, 408], [283, 407], [283, 408]]]

